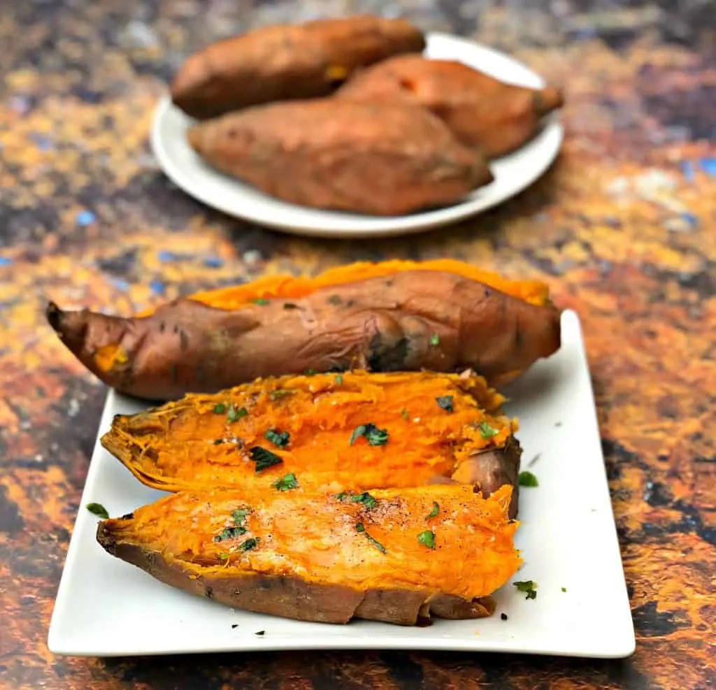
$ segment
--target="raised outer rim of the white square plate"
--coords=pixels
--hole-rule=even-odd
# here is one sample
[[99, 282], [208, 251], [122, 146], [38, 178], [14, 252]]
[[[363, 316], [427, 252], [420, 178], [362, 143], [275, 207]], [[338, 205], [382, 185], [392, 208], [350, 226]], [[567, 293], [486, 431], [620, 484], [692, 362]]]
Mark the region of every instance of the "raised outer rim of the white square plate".
[[[578, 338], [577, 347], [579, 349], [579, 356], [584, 361], [586, 366], [586, 373], [589, 374], [589, 362], [586, 357], [586, 349], [584, 347], [584, 335], [581, 330], [581, 323], [579, 316], [576, 312], [571, 310], [563, 311], [563, 319], [569, 319], [573, 322], [572, 328], [575, 329], [576, 337]], [[563, 322], [564, 326], [564, 322]], [[589, 376], [588, 376], [589, 379]], [[594, 427], [597, 438], [599, 439], [599, 423], [596, 414], [596, 400], [594, 399], [594, 390], [591, 385], [591, 380], [588, 380], [586, 384], [589, 386], [589, 394], [591, 395], [591, 409], [594, 413], [593, 419], [589, 420], [590, 427]], [[183, 646], [178, 648], [176, 644], [163, 646], [161, 643], [156, 644], [153, 648], [122, 648], [114, 649], [102, 646], [102, 641], [97, 640], [93, 646], [82, 646], [75, 643], [71, 637], [67, 637], [64, 633], [63, 626], [66, 628], [66, 618], [71, 615], [67, 611], [69, 606], [69, 599], [71, 597], [72, 588], [72, 570], [77, 568], [79, 563], [79, 551], [84, 546], [80, 543], [78, 535], [77, 525], [80, 517], [84, 517], [85, 520], [89, 520], [89, 517], [80, 515], [82, 506], [84, 506], [91, 499], [95, 492], [95, 487], [100, 483], [101, 470], [96, 460], [98, 452], [103, 452], [100, 444], [100, 436], [102, 429], [111, 421], [114, 414], [115, 406], [112, 404], [113, 400], [117, 397], [117, 394], [109, 389], [107, 397], [105, 399], [105, 407], [102, 410], [100, 418], [100, 425], [97, 431], [97, 438], [95, 440], [95, 447], [92, 451], [92, 461], [89, 465], [87, 473], [87, 479], [85, 480], [84, 489], [82, 490], [82, 497], [79, 502], [77, 509], [77, 515], [72, 528], [72, 537], [70, 539], [69, 548], [67, 555], [64, 560], [62, 575], [59, 581], [59, 588], [57, 590], [57, 596], [54, 601], [52, 610], [52, 618], [49, 625], [49, 631], [47, 635], [47, 646], [49, 651], [54, 654], [61, 656], [158, 656], [163, 654], [184, 654], [184, 653], [218, 653], [218, 652], [244, 652], [244, 651], [327, 651], [327, 650], [404, 650], [404, 651], [471, 651], [478, 653], [489, 653], [489, 652], [501, 652], [501, 653], [520, 653], [520, 654], [531, 654], [537, 656], [565, 656], [565, 657], [577, 657], [577, 658], [594, 658], [594, 659], [623, 659], [631, 656], [636, 648], [636, 637], [634, 633], [634, 621], [631, 614], [631, 606], [629, 602], [629, 596], [627, 592], [627, 583], [624, 576], [624, 560], [621, 556], [621, 549], [619, 547], [619, 540], [616, 534], [616, 520], [614, 519], [613, 504], [611, 502], [611, 492], [609, 492], [609, 486], [606, 477], [606, 467], [604, 466], [604, 454], [601, 450], [601, 444], [598, 444], [596, 451], [599, 452], [601, 457], [601, 470], [604, 473], [604, 485], [606, 487], [606, 499], [609, 501], [609, 510], [611, 511], [609, 539], [612, 542], [612, 546], [616, 544], [616, 555], [619, 558], [619, 565], [621, 566], [621, 578], [619, 578], [619, 598], [622, 599], [619, 604], [620, 607], [626, 607], [621, 610], [626, 621], [627, 612], [629, 613], [629, 629], [619, 627], [619, 633], [615, 635], [618, 641], [614, 644], [614, 648], [611, 651], [605, 652], [601, 650], [591, 650], [589, 646], [579, 647], [575, 646], [569, 650], [555, 651], [552, 649], [538, 648], [531, 646], [519, 646], [519, 648], [511, 648], [505, 643], [505, 640], [499, 639], [483, 639], [470, 638], [465, 635], [461, 636], [450, 636], [443, 635], [437, 636], [424, 636], [422, 634], [415, 633], [413, 636], [391, 636], [390, 626], [385, 623], [386, 634], [385, 635], [371, 635], [370, 633], [363, 636], [324, 636], [319, 640], [312, 640], [311, 636], [292, 636], [286, 633], [272, 633], [271, 636], [261, 638], [228, 638], [225, 643], [213, 644], [211, 647], [196, 648], [196, 646]], [[96, 495], [96, 494], [95, 494]], [[611, 549], [611, 547], [610, 547]], [[125, 564], [122, 564], [125, 565]], [[129, 566], [132, 567], [132, 566]], [[190, 595], [186, 595], [190, 596]], [[615, 595], [616, 596], [616, 595]], [[240, 612], [241, 613], [241, 612]], [[358, 621], [360, 623], [360, 621]], [[313, 623], [311, 623], [313, 625]], [[343, 627], [343, 626], [339, 626]], [[330, 630], [334, 626], [326, 626], [326, 629]], [[423, 628], [420, 628], [421, 630]]]

